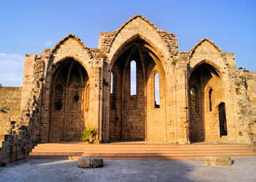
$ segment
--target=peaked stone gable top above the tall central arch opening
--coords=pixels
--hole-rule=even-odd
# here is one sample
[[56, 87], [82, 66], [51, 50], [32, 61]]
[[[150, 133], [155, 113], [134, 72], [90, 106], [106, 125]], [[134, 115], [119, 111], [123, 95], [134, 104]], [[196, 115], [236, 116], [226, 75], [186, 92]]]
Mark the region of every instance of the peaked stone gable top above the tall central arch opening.
[[[139, 25], [139, 26], [138, 26]], [[133, 36], [140, 35], [143, 39], [154, 45], [166, 61], [170, 56], [178, 53], [178, 41], [173, 33], [159, 30], [153, 23], [141, 15], [135, 15], [120, 26], [117, 31], [101, 33], [99, 49], [109, 53], [110, 60], [116, 55], [121, 45], [129, 41]]]

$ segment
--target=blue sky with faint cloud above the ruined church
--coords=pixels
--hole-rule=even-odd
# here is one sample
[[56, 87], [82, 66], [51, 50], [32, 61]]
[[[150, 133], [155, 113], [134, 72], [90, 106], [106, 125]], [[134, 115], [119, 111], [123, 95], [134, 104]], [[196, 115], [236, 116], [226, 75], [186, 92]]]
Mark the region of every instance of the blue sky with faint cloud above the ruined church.
[[26, 54], [53, 48], [68, 33], [97, 47], [100, 31], [114, 31], [138, 14], [175, 33], [179, 51], [208, 38], [222, 52], [234, 52], [238, 68], [256, 71], [255, 0], [1, 0], [0, 84], [22, 85]]

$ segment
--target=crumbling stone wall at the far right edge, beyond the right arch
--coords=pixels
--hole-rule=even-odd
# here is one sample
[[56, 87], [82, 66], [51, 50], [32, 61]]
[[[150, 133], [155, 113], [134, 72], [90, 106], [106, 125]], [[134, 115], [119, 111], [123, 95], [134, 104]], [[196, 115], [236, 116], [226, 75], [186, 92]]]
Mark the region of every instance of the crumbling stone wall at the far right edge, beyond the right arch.
[[239, 68], [235, 75], [237, 141], [248, 143], [256, 150], [255, 72], [243, 71]]

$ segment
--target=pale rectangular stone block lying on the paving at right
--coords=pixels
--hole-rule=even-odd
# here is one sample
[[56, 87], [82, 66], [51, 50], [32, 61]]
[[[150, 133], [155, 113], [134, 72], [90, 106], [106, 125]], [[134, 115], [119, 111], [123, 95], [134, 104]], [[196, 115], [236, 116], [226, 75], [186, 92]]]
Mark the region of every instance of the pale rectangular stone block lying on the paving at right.
[[204, 164], [209, 166], [230, 166], [232, 161], [230, 157], [206, 156]]

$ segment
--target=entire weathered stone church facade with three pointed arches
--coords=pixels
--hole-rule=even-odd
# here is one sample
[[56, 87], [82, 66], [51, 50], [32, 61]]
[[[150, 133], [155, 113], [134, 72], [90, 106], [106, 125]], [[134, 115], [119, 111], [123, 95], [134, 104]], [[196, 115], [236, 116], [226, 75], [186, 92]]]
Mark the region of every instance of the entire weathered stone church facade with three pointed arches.
[[[100, 33], [97, 49], [69, 34], [52, 50], [26, 55], [20, 100], [15, 130], [28, 150], [38, 142], [80, 141], [88, 123], [99, 128], [102, 142], [256, 146], [256, 73], [236, 68], [233, 53], [222, 52], [208, 39], [179, 52], [173, 33], [140, 15], [116, 31]], [[12, 143], [4, 141], [1, 154]]]

